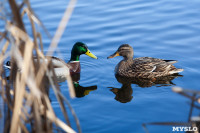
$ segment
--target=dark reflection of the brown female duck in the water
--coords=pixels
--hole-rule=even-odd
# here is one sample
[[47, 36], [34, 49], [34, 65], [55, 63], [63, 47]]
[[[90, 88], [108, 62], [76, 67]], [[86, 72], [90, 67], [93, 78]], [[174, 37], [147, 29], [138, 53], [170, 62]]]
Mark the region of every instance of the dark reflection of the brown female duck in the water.
[[153, 79], [137, 79], [137, 78], [127, 78], [122, 77], [119, 75], [115, 75], [115, 78], [119, 83], [122, 83], [121, 88], [115, 88], [115, 87], [108, 87], [111, 88], [110, 91], [112, 91], [116, 96], [115, 100], [121, 102], [121, 103], [127, 103], [130, 102], [133, 99], [133, 89], [131, 87], [131, 84], [136, 84], [139, 87], [151, 87], [151, 86], [172, 86], [175, 85], [172, 80], [177, 77], [182, 77], [182, 75], [175, 74], [160, 78], [153, 78]]

